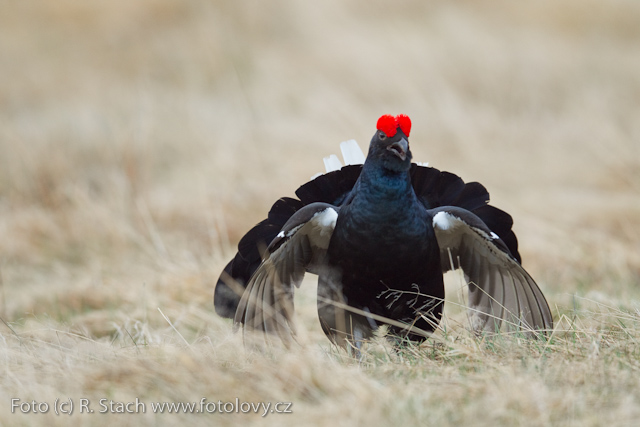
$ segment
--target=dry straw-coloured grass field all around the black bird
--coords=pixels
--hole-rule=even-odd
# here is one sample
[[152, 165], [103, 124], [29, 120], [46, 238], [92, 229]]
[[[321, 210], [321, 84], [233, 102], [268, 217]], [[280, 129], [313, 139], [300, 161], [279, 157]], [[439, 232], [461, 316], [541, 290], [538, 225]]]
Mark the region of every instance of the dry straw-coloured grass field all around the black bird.
[[[215, 316], [243, 232], [385, 113], [514, 216], [548, 341], [475, 339], [451, 304], [428, 343], [357, 363], [313, 278], [301, 348], [253, 354]], [[0, 1], [0, 425], [634, 425], [638, 117], [631, 0]], [[293, 413], [150, 407], [202, 398]]]

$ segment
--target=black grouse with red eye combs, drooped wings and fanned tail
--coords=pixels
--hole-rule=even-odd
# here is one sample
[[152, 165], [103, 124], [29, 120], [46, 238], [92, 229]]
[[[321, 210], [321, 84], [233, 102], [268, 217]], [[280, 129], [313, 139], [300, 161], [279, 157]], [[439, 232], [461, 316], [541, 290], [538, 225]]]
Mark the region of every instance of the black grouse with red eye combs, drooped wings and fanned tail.
[[406, 115], [377, 123], [364, 165], [281, 198], [240, 241], [216, 285], [216, 312], [245, 329], [295, 334], [294, 285], [318, 274], [318, 314], [334, 343], [358, 349], [381, 324], [420, 342], [440, 322], [443, 273], [462, 268], [478, 332], [550, 330], [549, 306], [520, 265], [506, 212], [477, 182], [411, 163]]

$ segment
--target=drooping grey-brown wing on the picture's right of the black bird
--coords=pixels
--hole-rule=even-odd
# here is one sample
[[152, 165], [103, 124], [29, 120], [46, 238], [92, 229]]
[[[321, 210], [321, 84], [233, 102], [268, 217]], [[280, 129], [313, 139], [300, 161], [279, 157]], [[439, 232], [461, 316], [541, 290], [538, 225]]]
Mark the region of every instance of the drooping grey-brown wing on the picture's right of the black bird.
[[469, 317], [476, 331], [551, 330], [544, 295], [497, 234], [466, 209], [429, 210], [442, 271], [462, 268], [469, 283]]

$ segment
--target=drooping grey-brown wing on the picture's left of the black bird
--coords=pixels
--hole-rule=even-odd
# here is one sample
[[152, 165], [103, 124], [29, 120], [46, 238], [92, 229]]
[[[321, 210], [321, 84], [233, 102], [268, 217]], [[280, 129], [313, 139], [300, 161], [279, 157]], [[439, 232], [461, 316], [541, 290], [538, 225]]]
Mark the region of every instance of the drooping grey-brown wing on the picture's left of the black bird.
[[317, 272], [325, 262], [338, 208], [312, 203], [297, 211], [271, 242], [240, 299], [234, 321], [245, 330], [276, 335], [288, 345], [295, 334], [293, 286], [304, 273]]

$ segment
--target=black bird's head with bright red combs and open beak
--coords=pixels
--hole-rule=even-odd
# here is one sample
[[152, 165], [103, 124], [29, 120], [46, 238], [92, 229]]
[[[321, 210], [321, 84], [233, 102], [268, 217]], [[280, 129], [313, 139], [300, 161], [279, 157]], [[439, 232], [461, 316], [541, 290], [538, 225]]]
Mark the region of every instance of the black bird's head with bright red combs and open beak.
[[378, 119], [377, 131], [371, 144], [367, 160], [379, 162], [383, 168], [394, 172], [405, 172], [411, 168], [409, 133], [411, 120], [404, 114], [384, 115]]

